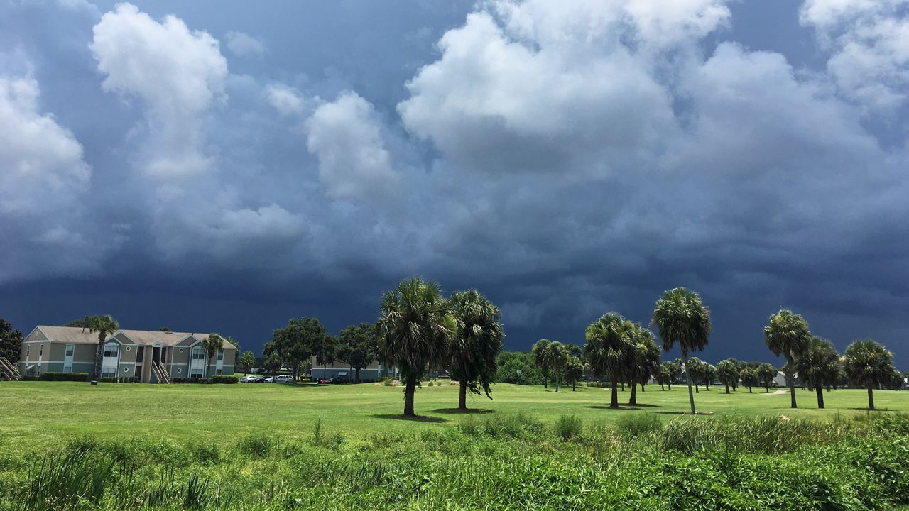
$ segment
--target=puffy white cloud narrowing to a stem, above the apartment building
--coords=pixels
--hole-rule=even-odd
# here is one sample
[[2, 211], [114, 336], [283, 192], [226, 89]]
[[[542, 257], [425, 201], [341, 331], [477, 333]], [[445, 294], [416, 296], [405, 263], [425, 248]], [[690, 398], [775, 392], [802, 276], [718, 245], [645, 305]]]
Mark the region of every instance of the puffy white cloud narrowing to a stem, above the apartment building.
[[223, 97], [227, 75], [217, 40], [173, 15], [158, 23], [131, 4], [102, 16], [94, 35], [90, 46], [105, 90], [145, 101], [144, 170], [162, 177], [207, 170], [202, 115]]

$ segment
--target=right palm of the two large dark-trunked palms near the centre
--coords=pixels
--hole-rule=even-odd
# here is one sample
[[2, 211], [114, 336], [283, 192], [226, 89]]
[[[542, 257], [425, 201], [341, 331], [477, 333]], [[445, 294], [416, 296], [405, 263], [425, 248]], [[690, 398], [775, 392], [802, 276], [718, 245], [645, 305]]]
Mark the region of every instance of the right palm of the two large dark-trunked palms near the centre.
[[452, 294], [452, 313], [458, 334], [449, 350], [452, 379], [457, 380], [458, 409], [467, 409], [467, 390], [492, 399], [490, 386], [495, 380], [495, 357], [502, 351], [504, 332], [499, 323], [499, 308], [474, 289]]

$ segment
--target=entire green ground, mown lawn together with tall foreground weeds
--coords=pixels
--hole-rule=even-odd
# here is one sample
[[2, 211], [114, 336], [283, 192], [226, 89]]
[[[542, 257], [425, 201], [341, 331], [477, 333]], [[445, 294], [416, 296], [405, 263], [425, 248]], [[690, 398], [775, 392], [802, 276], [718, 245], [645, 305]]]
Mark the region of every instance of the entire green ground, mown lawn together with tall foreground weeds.
[[[755, 389], [756, 390], [756, 389]], [[620, 400], [627, 401], [625, 392]], [[909, 504], [909, 393], [499, 385], [0, 384], [0, 511], [888, 510]], [[803, 420], [804, 419], [804, 420]]]

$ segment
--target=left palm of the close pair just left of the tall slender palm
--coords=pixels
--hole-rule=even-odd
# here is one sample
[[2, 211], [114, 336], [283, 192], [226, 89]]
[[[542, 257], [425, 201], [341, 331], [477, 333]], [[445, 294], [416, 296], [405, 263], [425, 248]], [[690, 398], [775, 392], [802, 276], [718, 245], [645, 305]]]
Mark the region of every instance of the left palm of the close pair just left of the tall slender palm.
[[618, 381], [634, 353], [629, 326], [634, 324], [611, 312], [591, 323], [584, 331], [584, 355], [594, 376], [609, 376], [612, 385], [610, 408], [619, 407]]

